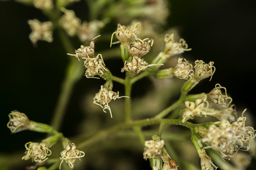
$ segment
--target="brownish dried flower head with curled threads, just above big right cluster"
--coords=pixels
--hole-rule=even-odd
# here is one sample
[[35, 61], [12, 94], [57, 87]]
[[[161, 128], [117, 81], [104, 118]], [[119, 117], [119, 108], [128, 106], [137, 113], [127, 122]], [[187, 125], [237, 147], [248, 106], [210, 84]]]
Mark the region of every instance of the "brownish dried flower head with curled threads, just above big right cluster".
[[[224, 90], [224, 93], [221, 89]], [[207, 94], [207, 100], [223, 105], [224, 107], [228, 107], [232, 102], [232, 98], [227, 95], [226, 88], [222, 87], [220, 84], [216, 84], [215, 88]]]

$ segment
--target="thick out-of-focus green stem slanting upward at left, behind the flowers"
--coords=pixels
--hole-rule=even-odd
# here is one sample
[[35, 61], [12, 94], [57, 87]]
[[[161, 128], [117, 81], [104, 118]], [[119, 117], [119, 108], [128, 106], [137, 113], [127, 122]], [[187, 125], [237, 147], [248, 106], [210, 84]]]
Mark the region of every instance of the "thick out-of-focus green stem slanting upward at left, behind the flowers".
[[[59, 29], [59, 37], [61, 38], [61, 42], [63, 43], [64, 48], [66, 49], [67, 53], [72, 53], [74, 48], [69, 41], [66, 33]], [[53, 113], [53, 118], [51, 121], [51, 125], [54, 129], [59, 130], [61, 122], [63, 120], [63, 115], [65, 113], [65, 109], [72, 92], [74, 84], [82, 77], [84, 72], [84, 68], [82, 64], [76, 60], [75, 58], [70, 58], [69, 65], [67, 67], [67, 72], [65, 79], [62, 84], [62, 88], [60, 91], [59, 99], [56, 105], [56, 108]]]

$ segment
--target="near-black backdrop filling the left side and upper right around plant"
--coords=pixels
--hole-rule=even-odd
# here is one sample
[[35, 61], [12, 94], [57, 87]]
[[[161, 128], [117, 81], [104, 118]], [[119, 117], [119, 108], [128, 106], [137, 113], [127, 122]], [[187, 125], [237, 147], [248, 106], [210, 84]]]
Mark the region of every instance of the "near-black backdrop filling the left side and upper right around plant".
[[[237, 108], [247, 108], [255, 120], [255, 38], [256, 1], [254, 0], [171, 0], [171, 15], [164, 28], [178, 27], [180, 36], [192, 51], [185, 57], [215, 62], [216, 72], [211, 82], [202, 81], [192, 93], [210, 91], [214, 84], [226, 87]], [[72, 8], [78, 13], [87, 13], [80, 6]], [[41, 137], [34, 132], [10, 135], [6, 124], [8, 113], [19, 110], [34, 121], [50, 123], [51, 113], [58, 99], [61, 82], [68, 63], [61, 42], [54, 34], [54, 42], [38, 42], [33, 48], [28, 35], [31, 30], [28, 19], [47, 18], [34, 7], [13, 1], [0, 1], [0, 128], [5, 140], [0, 141], [0, 151], [14, 152], [24, 143]], [[86, 19], [86, 15], [83, 20]], [[113, 26], [115, 30], [116, 26]], [[74, 40], [74, 46], [78, 46]], [[109, 37], [110, 40], [110, 37]], [[191, 60], [191, 59], [190, 59]], [[113, 61], [109, 62], [109, 64]], [[108, 64], [107, 64], [108, 65]], [[147, 80], [147, 79], [143, 79]], [[141, 84], [143, 84], [141, 80]], [[102, 81], [102, 80], [101, 80]], [[95, 82], [93, 80], [93, 82]], [[103, 82], [103, 81], [102, 81]], [[98, 82], [98, 84], [102, 84]], [[81, 79], [72, 92], [66, 110], [67, 119], [79, 123], [81, 111], [77, 103], [81, 89], [91, 86], [87, 79]], [[144, 84], [147, 88], [147, 85]], [[64, 124], [65, 124], [64, 121]], [[255, 126], [254, 126], [255, 127]], [[62, 126], [64, 135], [72, 136], [69, 128]], [[19, 141], [19, 142], [17, 142]], [[5, 144], [5, 145], [4, 145]]]

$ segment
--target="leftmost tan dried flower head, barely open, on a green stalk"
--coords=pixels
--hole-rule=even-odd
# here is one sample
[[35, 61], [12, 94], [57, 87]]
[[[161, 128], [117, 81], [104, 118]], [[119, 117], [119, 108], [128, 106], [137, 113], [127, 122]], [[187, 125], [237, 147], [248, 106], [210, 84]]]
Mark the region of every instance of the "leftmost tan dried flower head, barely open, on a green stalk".
[[11, 130], [12, 133], [30, 129], [30, 120], [24, 113], [20, 113], [15, 110], [12, 111], [8, 116], [10, 120], [7, 123], [7, 127]]

